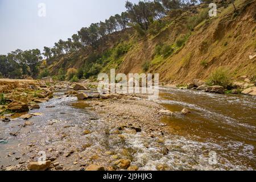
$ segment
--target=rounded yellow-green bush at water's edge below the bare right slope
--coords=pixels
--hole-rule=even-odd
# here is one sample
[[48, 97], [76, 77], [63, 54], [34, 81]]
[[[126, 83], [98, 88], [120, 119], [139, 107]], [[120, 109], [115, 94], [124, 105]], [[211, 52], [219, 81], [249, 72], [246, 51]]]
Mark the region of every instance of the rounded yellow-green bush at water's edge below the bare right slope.
[[227, 68], [220, 67], [215, 69], [207, 80], [208, 85], [220, 85], [226, 88], [231, 83], [231, 76]]

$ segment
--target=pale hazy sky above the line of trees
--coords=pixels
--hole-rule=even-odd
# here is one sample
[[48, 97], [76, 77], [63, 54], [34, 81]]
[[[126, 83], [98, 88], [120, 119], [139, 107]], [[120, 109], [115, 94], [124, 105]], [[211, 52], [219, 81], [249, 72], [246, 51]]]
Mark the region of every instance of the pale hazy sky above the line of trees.
[[[0, 55], [14, 51], [53, 47], [81, 27], [125, 11], [126, 0], [0, 0]], [[139, 0], [130, 0], [138, 3]], [[38, 15], [40, 3], [46, 16]]]

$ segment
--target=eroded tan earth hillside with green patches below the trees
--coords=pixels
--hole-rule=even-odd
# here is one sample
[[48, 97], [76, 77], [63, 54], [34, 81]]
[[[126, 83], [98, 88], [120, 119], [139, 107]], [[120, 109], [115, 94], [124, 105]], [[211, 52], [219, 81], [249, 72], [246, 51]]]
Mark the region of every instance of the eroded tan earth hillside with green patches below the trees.
[[[79, 69], [97, 63], [101, 72], [110, 68], [122, 73], [146, 71], [160, 73], [163, 82], [183, 83], [205, 80], [214, 69], [225, 66], [235, 80], [243, 75], [253, 77], [256, 59], [249, 56], [256, 53], [256, 2], [239, 0], [235, 5], [236, 12], [230, 4], [220, 7], [217, 17], [212, 18], [207, 5], [197, 6], [196, 12], [171, 12], [163, 19], [166, 26], [156, 35], [138, 36], [130, 29], [117, 32], [104, 46], [58, 57], [49, 69], [56, 74], [60, 67]], [[171, 53], [156, 55], [161, 44], [171, 46]], [[144, 65], [147, 68], [143, 69]]]

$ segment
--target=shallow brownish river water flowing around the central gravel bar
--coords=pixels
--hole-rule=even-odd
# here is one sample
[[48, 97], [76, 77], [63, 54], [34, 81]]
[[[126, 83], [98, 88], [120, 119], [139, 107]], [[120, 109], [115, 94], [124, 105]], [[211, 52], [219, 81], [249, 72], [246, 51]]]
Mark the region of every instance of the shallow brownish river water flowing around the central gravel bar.
[[[30, 111], [43, 114], [29, 120], [32, 126], [22, 127], [22, 119], [0, 122], [0, 139], [5, 141], [0, 143], [0, 167], [22, 165], [46, 151], [72, 170], [90, 163], [110, 166], [119, 158], [129, 158], [139, 170], [256, 169], [255, 97], [161, 88], [159, 104], [192, 113], [163, 117], [159, 122], [168, 126], [170, 134], [151, 138], [143, 130], [113, 135], [114, 129], [86, 101], [63, 94], [64, 90], [56, 92], [59, 98]], [[81, 135], [84, 130], [90, 132]], [[17, 131], [16, 137], [9, 134]]]

